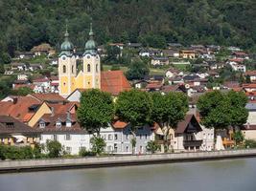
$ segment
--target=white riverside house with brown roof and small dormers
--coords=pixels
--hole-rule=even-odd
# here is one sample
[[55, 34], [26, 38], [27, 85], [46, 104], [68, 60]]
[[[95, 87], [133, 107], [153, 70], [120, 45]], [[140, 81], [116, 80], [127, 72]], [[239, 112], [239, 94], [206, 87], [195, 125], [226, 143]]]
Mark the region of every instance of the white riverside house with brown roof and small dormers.
[[90, 149], [90, 138], [77, 120], [76, 114], [45, 114], [35, 123], [40, 131], [40, 144], [49, 140], [58, 140], [64, 150], [71, 155], [79, 155], [81, 149]]

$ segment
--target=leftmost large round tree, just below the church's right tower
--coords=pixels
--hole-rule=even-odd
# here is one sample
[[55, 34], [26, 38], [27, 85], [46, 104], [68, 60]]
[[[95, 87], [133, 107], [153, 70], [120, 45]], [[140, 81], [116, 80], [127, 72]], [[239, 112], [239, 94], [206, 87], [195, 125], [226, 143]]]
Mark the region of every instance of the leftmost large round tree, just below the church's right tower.
[[112, 97], [98, 89], [84, 91], [77, 116], [82, 128], [100, 137], [101, 128], [107, 127], [114, 117]]

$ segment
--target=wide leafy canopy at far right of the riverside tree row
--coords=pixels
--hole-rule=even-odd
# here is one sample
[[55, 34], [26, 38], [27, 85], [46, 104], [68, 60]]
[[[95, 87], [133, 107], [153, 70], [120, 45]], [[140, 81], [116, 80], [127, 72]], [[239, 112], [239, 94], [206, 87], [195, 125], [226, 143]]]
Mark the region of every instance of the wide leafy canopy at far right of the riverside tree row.
[[214, 128], [215, 131], [232, 127], [233, 132], [236, 133], [240, 131], [240, 127], [248, 117], [248, 111], [245, 109], [246, 102], [247, 97], [243, 92], [206, 93], [198, 99], [202, 124], [206, 128]]

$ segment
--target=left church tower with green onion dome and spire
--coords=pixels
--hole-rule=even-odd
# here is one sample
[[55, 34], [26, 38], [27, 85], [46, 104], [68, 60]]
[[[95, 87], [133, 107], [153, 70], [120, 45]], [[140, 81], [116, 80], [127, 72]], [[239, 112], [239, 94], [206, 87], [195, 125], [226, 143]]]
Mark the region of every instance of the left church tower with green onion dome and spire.
[[65, 40], [61, 44], [61, 53], [58, 55], [59, 95], [69, 96], [76, 88], [77, 64], [73, 53], [74, 46], [69, 41], [69, 33], [65, 32]]

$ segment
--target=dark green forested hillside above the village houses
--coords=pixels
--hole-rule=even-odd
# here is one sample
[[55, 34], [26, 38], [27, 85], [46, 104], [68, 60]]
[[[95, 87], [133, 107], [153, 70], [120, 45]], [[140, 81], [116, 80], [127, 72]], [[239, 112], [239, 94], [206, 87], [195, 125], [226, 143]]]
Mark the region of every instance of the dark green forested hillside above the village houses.
[[58, 48], [65, 20], [83, 49], [90, 18], [98, 44], [167, 42], [218, 44], [256, 50], [255, 0], [1, 0], [0, 53], [30, 51], [42, 42]]

